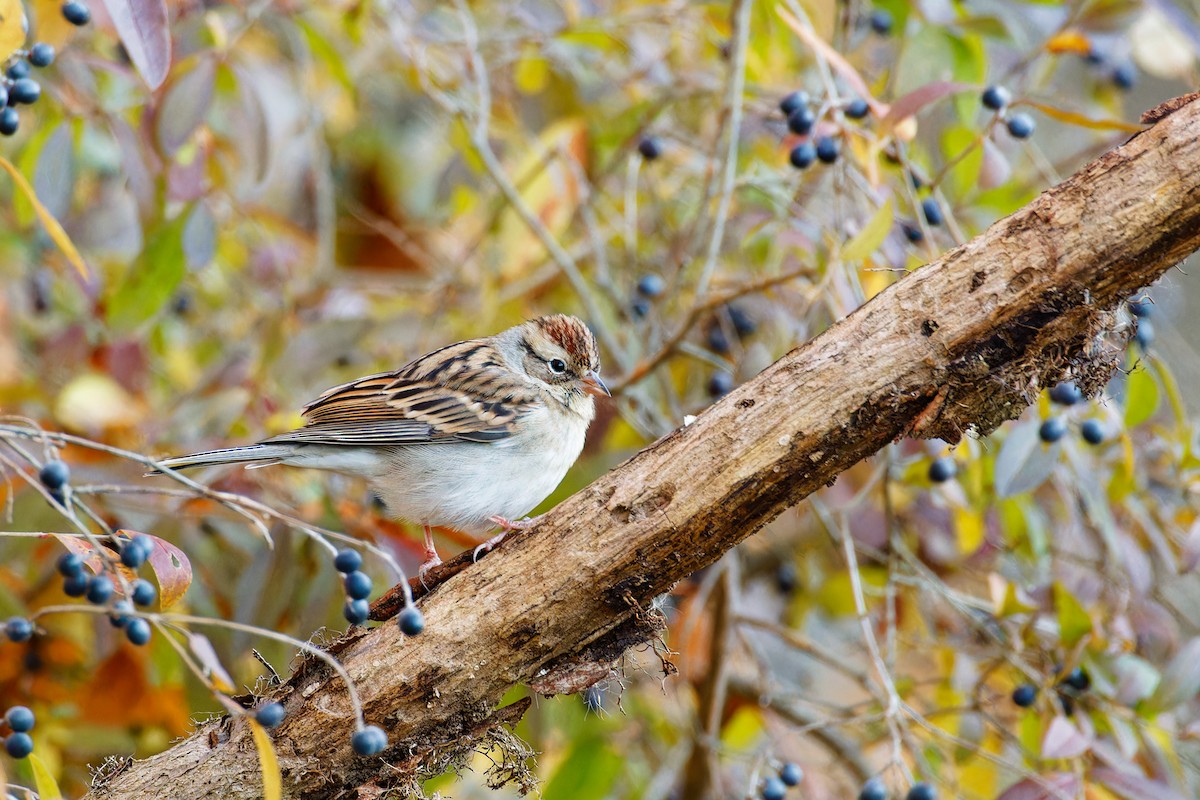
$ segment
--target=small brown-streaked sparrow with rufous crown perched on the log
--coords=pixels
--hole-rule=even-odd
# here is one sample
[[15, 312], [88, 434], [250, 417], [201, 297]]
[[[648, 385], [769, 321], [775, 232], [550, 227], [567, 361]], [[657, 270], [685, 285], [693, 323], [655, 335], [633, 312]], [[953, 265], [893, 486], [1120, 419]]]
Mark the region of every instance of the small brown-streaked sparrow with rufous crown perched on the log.
[[527, 529], [522, 518], [578, 458], [595, 398], [608, 395], [595, 336], [552, 314], [334, 386], [304, 407], [294, 431], [158, 464], [286, 464], [366, 479], [394, 517], [424, 528], [424, 576], [442, 563], [433, 528], [499, 528], [476, 558]]

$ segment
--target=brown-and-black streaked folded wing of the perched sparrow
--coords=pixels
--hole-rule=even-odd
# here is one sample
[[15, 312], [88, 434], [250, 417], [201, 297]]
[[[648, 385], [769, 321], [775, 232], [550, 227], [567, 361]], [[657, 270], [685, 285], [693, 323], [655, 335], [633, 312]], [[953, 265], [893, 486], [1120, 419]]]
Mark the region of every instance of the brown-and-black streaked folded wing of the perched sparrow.
[[334, 386], [304, 408], [307, 425], [266, 443], [420, 445], [497, 441], [541, 403], [486, 341], [451, 344], [396, 372]]

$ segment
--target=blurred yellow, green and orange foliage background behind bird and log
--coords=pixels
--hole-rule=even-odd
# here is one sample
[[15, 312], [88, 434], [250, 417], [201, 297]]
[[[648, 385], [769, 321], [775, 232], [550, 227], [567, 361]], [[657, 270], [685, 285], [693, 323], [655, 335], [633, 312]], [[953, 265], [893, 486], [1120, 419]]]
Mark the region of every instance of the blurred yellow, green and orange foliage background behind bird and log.
[[[167, 25], [131, 38], [106, 6]], [[1194, 88], [1200, 52], [1186, 0], [113, 0], [80, 29], [56, 0], [26, 11], [59, 56], [0, 155], [89, 271], [0, 181], [0, 409], [25, 417], [0, 428], [4, 616], [77, 602], [60, 540], [17, 535], [73, 529], [37, 485], [53, 443], [16, 428], [149, 456], [246, 443], [328, 386], [570, 312], [616, 391], [551, 505], [1122, 142]], [[797, 90], [810, 136], [779, 108]], [[822, 138], [833, 163], [790, 164]], [[889, 447], [664, 599], [677, 676], [630, 654], [582, 698], [535, 703], [518, 733], [542, 796], [752, 796], [785, 762], [814, 799], [872, 776], [895, 796], [1196, 796], [1195, 282], [1165, 282], [1103, 395], [1043, 396], [954, 449]], [[1050, 419], [1066, 434], [1045, 441]], [[86, 444], [60, 457], [80, 524], [186, 554], [186, 576], [152, 576], [186, 589], [172, 610], [344, 628], [329, 555], [296, 525]], [[198, 479], [420, 559], [420, 531], [352, 481]], [[394, 578], [365, 569], [377, 591]], [[0, 708], [36, 711], [68, 794], [220, 711], [162, 636], [38, 625], [0, 643]], [[281, 672], [294, 654], [204, 633], [239, 687], [265, 672], [252, 649]], [[515, 796], [488, 765], [426, 789]], [[31, 784], [28, 763], [5, 769]]]

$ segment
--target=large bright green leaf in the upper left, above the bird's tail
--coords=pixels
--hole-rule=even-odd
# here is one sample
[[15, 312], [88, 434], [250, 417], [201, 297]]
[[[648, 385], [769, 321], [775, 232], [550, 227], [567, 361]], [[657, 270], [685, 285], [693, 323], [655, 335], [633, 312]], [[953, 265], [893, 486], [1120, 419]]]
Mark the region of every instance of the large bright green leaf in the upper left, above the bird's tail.
[[187, 270], [184, 255], [187, 218], [188, 213], [180, 213], [150, 235], [142, 258], [108, 299], [109, 325], [130, 331], [154, 317], [174, 296]]

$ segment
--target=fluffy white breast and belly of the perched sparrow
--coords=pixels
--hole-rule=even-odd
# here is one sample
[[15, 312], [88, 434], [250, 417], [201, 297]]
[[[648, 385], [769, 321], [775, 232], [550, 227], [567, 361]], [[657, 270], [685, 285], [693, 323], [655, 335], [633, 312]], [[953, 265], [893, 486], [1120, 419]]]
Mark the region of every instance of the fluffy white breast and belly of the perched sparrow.
[[587, 428], [576, 414], [541, 408], [499, 441], [396, 447], [371, 485], [402, 519], [481, 534], [496, 527], [488, 517], [520, 519], [545, 500], [578, 458]]

